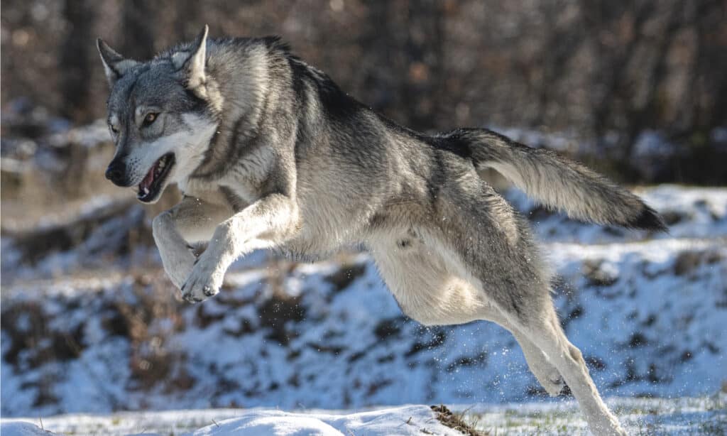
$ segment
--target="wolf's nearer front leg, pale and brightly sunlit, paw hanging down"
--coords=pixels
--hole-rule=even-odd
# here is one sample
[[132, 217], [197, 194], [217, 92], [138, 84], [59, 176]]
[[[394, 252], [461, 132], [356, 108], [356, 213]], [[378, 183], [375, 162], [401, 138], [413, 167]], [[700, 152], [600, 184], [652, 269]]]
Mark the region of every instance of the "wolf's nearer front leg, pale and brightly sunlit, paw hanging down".
[[297, 204], [283, 194], [271, 194], [225, 220], [214, 230], [209, 246], [182, 286], [182, 297], [201, 302], [220, 291], [228, 267], [254, 249], [269, 248], [296, 233], [300, 217]]

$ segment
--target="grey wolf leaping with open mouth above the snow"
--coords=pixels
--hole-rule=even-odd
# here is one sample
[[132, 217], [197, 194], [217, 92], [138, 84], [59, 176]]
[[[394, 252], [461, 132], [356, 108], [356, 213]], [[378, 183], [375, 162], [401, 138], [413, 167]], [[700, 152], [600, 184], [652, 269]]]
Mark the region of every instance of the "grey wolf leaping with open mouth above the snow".
[[[601, 225], [665, 230], [636, 195], [585, 166], [486, 129], [422, 134], [343, 92], [277, 37], [207, 37], [140, 62], [97, 41], [116, 153], [106, 177], [154, 203], [164, 270], [182, 297], [219, 292], [255, 249], [371, 253], [419, 323], [490, 320], [517, 339], [550, 395], [569, 387], [597, 435], [624, 435], [551, 299], [525, 219], [479, 174], [494, 169], [539, 203]], [[196, 256], [190, 244], [206, 243]]]

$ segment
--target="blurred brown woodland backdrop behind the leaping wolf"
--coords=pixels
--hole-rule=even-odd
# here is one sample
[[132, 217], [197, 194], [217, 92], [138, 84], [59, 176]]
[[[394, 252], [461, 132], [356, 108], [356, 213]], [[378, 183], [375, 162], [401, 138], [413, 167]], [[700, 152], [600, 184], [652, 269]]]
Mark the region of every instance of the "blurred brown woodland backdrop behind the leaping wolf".
[[415, 129], [574, 132], [630, 179], [644, 177], [629, 167], [645, 129], [688, 155], [717, 153], [727, 126], [723, 0], [4, 0], [1, 19], [4, 108], [30, 97], [76, 122], [103, 113], [97, 33], [144, 59], [209, 23], [213, 36], [281, 34]]

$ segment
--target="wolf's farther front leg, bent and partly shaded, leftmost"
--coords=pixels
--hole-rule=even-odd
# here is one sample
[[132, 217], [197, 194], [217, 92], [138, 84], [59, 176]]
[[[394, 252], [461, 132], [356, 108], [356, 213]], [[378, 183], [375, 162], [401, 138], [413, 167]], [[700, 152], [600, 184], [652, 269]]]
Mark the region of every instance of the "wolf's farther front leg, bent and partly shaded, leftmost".
[[209, 239], [217, 225], [231, 214], [225, 206], [185, 196], [177, 206], [154, 218], [154, 241], [174, 286], [182, 288], [196, 262], [189, 243]]

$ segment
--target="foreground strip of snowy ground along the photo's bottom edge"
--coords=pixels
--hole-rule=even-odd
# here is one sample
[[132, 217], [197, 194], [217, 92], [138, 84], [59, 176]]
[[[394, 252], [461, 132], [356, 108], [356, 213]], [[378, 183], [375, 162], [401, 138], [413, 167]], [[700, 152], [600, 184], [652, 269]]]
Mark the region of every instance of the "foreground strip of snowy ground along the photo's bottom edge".
[[[667, 399], [619, 398], [608, 403], [630, 435], [724, 435], [727, 396]], [[587, 435], [572, 401], [450, 406], [483, 435]], [[202, 409], [63, 415], [4, 419], [3, 436], [48, 435], [462, 435], [425, 405], [369, 411]]]

